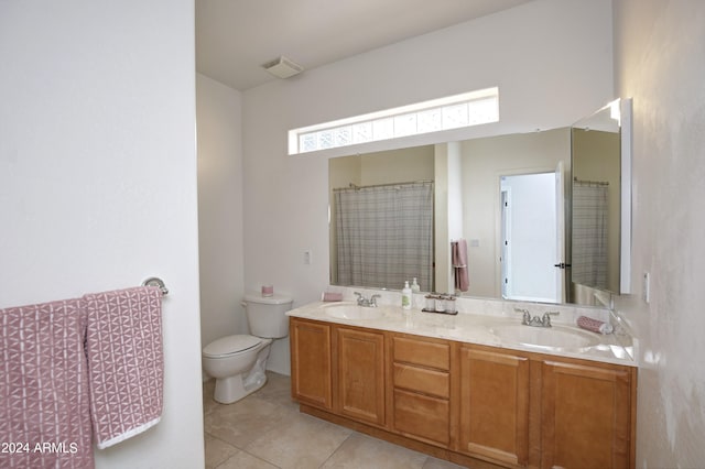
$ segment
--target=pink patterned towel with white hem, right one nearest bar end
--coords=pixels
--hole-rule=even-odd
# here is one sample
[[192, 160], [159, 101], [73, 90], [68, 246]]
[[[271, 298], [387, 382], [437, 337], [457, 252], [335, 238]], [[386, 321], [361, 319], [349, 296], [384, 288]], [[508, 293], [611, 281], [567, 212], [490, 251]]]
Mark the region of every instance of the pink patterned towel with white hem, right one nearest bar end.
[[84, 296], [90, 417], [98, 448], [142, 433], [161, 418], [161, 297], [151, 286]]

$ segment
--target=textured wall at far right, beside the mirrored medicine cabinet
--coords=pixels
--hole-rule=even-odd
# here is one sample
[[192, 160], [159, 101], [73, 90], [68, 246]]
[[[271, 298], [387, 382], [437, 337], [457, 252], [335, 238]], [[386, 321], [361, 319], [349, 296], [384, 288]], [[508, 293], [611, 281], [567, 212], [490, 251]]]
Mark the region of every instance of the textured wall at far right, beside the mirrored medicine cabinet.
[[[615, 1], [618, 94], [633, 97], [637, 467], [705, 461], [705, 2]], [[650, 303], [641, 276], [651, 274]]]

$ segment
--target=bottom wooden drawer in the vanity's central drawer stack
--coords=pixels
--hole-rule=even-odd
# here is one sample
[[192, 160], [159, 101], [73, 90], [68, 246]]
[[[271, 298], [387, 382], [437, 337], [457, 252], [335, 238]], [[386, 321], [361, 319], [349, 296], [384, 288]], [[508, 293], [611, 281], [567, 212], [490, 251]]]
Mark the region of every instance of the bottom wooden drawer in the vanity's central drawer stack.
[[449, 412], [446, 400], [394, 390], [394, 427], [406, 436], [448, 445]]

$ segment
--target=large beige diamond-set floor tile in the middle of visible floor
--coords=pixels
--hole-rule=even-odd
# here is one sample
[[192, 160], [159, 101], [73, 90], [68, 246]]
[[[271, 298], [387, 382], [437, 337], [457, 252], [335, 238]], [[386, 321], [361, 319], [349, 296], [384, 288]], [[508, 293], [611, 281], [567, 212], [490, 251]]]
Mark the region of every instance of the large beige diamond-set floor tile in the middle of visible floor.
[[283, 469], [318, 468], [352, 433], [305, 414], [292, 414], [246, 450]]

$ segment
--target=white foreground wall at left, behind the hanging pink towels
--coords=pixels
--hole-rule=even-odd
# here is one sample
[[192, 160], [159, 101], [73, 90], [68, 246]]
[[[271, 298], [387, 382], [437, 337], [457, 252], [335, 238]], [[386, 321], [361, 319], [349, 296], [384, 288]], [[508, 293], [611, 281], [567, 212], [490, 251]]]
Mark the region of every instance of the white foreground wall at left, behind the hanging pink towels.
[[0, 307], [159, 275], [160, 424], [98, 468], [203, 467], [194, 6], [0, 2]]

